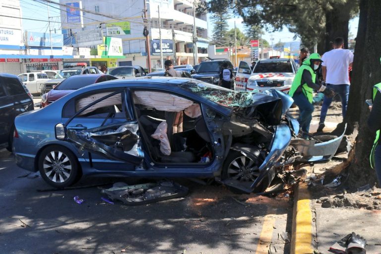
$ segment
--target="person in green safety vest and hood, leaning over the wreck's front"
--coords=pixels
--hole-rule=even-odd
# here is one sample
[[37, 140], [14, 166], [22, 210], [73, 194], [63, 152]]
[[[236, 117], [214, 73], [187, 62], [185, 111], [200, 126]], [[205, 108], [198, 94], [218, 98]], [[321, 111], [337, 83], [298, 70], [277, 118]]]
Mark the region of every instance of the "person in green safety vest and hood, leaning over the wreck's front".
[[323, 92], [327, 97], [334, 96], [332, 89], [326, 88], [324, 84], [318, 84], [316, 73], [321, 62], [318, 53], [311, 54], [298, 69], [288, 93], [299, 107], [298, 121], [302, 129], [302, 136], [306, 139], [309, 139], [310, 123], [314, 112], [314, 106], [312, 105], [314, 90]]

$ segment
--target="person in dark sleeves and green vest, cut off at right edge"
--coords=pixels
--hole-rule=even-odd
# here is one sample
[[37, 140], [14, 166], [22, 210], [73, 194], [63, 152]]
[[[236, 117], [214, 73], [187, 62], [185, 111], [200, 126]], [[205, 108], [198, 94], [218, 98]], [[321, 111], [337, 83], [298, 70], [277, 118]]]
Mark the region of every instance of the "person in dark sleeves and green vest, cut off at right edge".
[[376, 168], [377, 178], [379, 179], [379, 185], [381, 186], [381, 145], [379, 144], [381, 129], [381, 83], [378, 83], [373, 87], [372, 99], [373, 104], [370, 107], [371, 114], [368, 119], [368, 126], [372, 131], [376, 132], [376, 139], [373, 142], [370, 161], [372, 168]]

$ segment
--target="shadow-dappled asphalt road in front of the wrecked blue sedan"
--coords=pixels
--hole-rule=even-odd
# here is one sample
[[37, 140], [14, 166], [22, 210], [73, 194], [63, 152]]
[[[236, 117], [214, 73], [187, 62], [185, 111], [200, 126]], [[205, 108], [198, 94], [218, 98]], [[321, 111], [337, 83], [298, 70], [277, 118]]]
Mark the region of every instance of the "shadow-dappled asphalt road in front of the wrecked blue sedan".
[[[103, 202], [100, 187], [37, 191], [50, 187], [29, 173], [0, 151], [1, 254], [289, 253], [292, 204], [284, 196], [236, 195], [180, 180], [190, 188], [184, 198], [127, 206]], [[88, 178], [76, 186], [116, 181], [126, 179]]]

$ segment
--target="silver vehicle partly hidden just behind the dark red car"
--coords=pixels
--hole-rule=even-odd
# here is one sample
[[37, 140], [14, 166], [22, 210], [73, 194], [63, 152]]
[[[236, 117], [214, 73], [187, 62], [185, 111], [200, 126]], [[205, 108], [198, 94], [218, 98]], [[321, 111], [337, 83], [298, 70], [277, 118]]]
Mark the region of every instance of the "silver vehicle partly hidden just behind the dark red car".
[[74, 75], [82, 75], [82, 74], [99, 74], [102, 73], [97, 67], [82, 67], [82, 66], [77, 66], [77, 67], [70, 67], [70, 68], [64, 68], [60, 70], [54, 76], [52, 79], [49, 79], [43, 83], [41, 83], [41, 96], [45, 93], [48, 93], [50, 90], [52, 90], [54, 87], [56, 87], [59, 83], [65, 80], [67, 77], [71, 77]]

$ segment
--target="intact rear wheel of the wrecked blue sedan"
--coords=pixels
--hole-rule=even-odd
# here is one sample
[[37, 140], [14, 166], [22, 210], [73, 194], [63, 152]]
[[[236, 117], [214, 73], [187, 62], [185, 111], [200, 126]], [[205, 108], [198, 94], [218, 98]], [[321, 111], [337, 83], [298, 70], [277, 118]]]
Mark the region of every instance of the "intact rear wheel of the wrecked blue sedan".
[[48, 146], [41, 152], [38, 169], [45, 182], [58, 189], [75, 184], [81, 176], [77, 158], [61, 145]]

